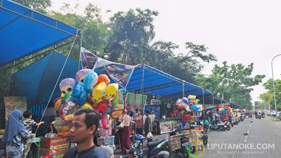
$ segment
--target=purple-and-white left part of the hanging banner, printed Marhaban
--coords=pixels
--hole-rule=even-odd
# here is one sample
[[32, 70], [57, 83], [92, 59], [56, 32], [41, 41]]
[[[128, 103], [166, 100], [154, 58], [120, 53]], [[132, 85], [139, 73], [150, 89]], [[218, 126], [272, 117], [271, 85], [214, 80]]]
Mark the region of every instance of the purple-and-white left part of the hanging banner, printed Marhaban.
[[95, 69], [114, 63], [96, 56], [83, 47], [81, 47], [81, 62], [83, 69]]

